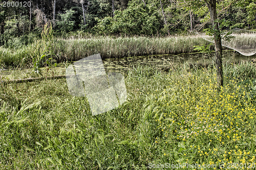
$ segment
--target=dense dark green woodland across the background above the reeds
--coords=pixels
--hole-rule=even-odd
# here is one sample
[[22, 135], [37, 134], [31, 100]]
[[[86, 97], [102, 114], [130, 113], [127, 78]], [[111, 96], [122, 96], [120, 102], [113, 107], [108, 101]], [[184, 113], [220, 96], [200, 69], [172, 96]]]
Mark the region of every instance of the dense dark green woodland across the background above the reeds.
[[[78, 30], [93, 34], [166, 35], [167, 30], [172, 34], [188, 33], [191, 31], [191, 24], [195, 31], [210, 26], [207, 7], [203, 1], [164, 0], [164, 13], [161, 11], [160, 1], [144, 2], [145, 4], [140, 0], [32, 0], [30, 7], [3, 7], [2, 3], [0, 45], [12, 48], [18, 44], [34, 42], [36, 37], [40, 38], [40, 30], [47, 21], [53, 23], [55, 34], [62, 36]], [[223, 29], [246, 28], [255, 24], [254, 0], [236, 3], [225, 0], [217, 5], [218, 17], [225, 22]], [[166, 16], [166, 24], [163, 14]]]

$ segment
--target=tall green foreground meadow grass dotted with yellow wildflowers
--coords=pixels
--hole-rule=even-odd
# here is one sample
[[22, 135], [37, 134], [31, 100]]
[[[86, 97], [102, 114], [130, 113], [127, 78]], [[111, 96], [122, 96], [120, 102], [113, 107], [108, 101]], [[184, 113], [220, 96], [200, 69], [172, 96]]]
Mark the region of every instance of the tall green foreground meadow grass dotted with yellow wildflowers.
[[125, 76], [127, 102], [97, 116], [86, 98], [69, 95], [65, 79], [1, 84], [0, 168], [255, 162], [255, 64], [224, 72], [218, 90], [212, 68], [138, 66]]

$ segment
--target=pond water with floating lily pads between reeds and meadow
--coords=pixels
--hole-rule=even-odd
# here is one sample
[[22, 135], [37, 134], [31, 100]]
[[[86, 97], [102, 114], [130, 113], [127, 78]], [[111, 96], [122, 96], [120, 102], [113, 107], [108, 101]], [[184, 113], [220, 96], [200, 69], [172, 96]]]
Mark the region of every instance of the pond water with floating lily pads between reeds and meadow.
[[[208, 65], [213, 64], [212, 58], [214, 58], [215, 53], [204, 54], [204, 53], [193, 53], [193, 54], [178, 54], [178, 55], [153, 55], [153, 56], [138, 56], [138, 57], [126, 57], [119, 59], [104, 59], [102, 60], [103, 65], [107, 72], [116, 71], [116, 72], [127, 72], [128, 69], [132, 69], [134, 66], [138, 65], [150, 65], [154, 67], [170, 67], [172, 63], [189, 63], [189, 64], [200, 64]], [[241, 60], [256, 59], [256, 55], [253, 56], [243, 56], [234, 51], [223, 51], [223, 63], [232, 62], [236, 63]], [[57, 67], [53, 67], [48, 71], [48, 76], [65, 75], [66, 67], [69, 64], [58, 64]], [[46, 72], [45, 68], [41, 68], [42, 72]], [[43, 74], [46, 75], [46, 74]], [[32, 69], [26, 70], [3, 70], [0, 69], [0, 78], [2, 79], [24, 79], [38, 77], [33, 74]]]

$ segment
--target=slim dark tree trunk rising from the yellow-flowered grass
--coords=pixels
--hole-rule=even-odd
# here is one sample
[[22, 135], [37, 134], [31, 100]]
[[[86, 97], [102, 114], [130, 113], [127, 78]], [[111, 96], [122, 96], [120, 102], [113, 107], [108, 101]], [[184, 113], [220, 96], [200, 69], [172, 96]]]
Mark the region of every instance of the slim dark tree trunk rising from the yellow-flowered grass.
[[223, 86], [222, 46], [220, 29], [217, 23], [216, 0], [204, 0], [204, 2], [206, 3], [210, 11], [210, 19], [212, 23], [212, 28], [214, 29], [218, 87], [221, 87]]

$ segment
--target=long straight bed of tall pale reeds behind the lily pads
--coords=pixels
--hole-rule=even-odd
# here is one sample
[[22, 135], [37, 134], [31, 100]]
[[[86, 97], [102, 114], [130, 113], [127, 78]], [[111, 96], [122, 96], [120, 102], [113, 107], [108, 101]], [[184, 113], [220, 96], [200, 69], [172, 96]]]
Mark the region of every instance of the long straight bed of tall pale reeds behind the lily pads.
[[180, 54], [193, 52], [195, 45], [206, 41], [198, 36], [177, 37], [96, 37], [88, 39], [58, 39], [54, 54], [78, 60], [100, 53], [104, 58], [129, 56]]

